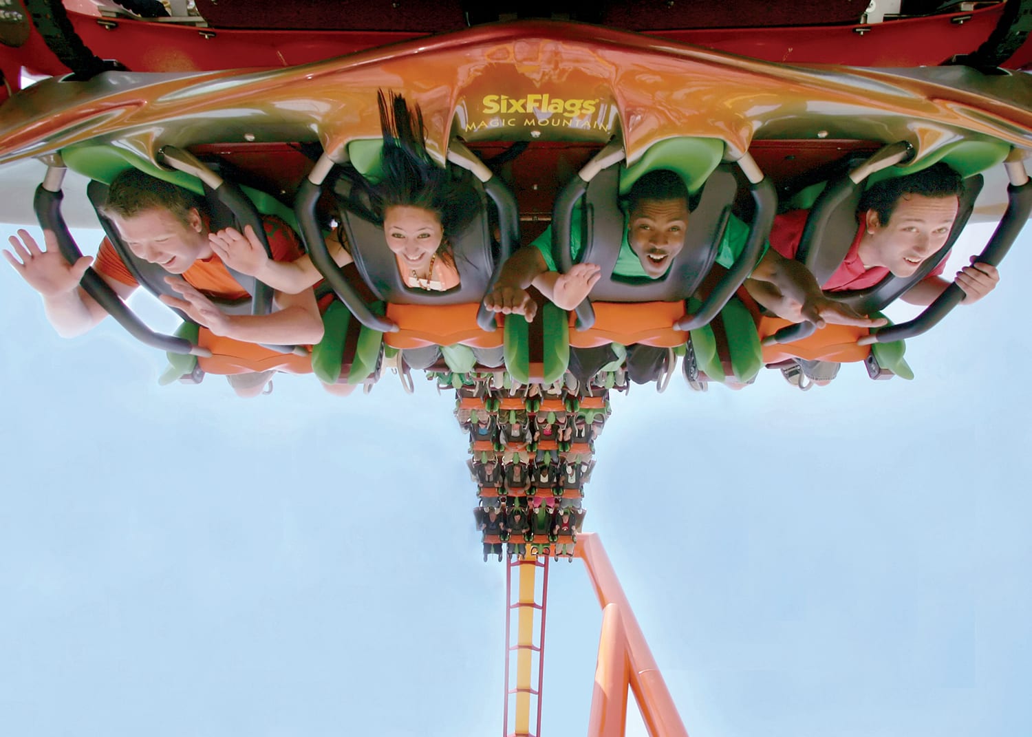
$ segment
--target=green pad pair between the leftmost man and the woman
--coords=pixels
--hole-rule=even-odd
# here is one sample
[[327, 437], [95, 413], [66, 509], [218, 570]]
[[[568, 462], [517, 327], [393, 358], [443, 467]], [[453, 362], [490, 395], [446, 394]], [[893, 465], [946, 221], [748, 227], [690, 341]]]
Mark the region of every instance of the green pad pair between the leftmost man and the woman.
[[383, 333], [367, 328], [341, 302], [333, 300], [322, 315], [323, 340], [312, 348], [312, 372], [324, 384], [361, 384], [377, 370]]

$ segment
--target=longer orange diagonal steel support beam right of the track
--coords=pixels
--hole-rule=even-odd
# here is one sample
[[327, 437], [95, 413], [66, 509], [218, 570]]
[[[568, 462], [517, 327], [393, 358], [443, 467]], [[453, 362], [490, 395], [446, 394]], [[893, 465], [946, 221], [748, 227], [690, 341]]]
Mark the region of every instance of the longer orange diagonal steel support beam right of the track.
[[[616, 572], [613, 570], [613, 566], [609, 562], [609, 556], [606, 555], [606, 551], [602, 546], [602, 541], [594, 534], [585, 533], [579, 535], [575, 554], [584, 560], [603, 611], [605, 612], [611, 606], [615, 607], [616, 614], [610, 614], [608, 617], [608, 632], [612, 635], [613, 630], [617, 630], [616, 634], [619, 636], [618, 642], [622, 644], [622, 648], [612, 645], [611, 641], [605, 639], [600, 643], [599, 663], [600, 667], [606, 669], [606, 678], [612, 678], [614, 673], [614, 664], [609, 662], [610, 659], [619, 658], [619, 655], [613, 654], [614, 648], [617, 650], [622, 649], [623, 656], [626, 658], [627, 663], [625, 669], [627, 679], [624, 683], [628, 684], [632, 691], [634, 691], [649, 735], [651, 737], [687, 737], [688, 733], [681, 723], [681, 717], [677, 713], [674, 700], [667, 690], [667, 684], [663, 680], [663, 675], [659, 673], [655, 660], [652, 658], [652, 652], [645, 641], [645, 635], [642, 634], [641, 628], [635, 619], [631, 603], [627, 601], [622, 586], [620, 586]], [[609, 611], [613, 610], [609, 609]], [[617, 622], [615, 624], [613, 623], [614, 619]], [[604, 614], [604, 630], [606, 624], [607, 619]], [[604, 632], [605, 634], [606, 632]], [[617, 662], [615, 664], [615, 673], [619, 673], [618, 665]], [[610, 690], [605, 692], [608, 702], [614, 698], [614, 692], [612, 691], [611, 681], [607, 680], [606, 682], [610, 683]], [[599, 696], [598, 687], [595, 696]], [[612, 717], [610, 714], [612, 708], [608, 703], [596, 706], [595, 702], [592, 701], [592, 718], [596, 712], [601, 712], [603, 716], [607, 717], [607, 723], [611, 722]], [[591, 737], [595, 737], [595, 734], [589, 733]], [[622, 734], [622, 729], [620, 732], [606, 732], [605, 737], [619, 734]]]

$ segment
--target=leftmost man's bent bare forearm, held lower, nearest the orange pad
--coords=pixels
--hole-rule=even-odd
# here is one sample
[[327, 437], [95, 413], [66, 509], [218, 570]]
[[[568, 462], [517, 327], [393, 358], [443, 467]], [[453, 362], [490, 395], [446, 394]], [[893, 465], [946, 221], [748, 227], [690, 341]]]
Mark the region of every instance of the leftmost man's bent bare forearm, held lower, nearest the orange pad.
[[277, 292], [279, 310], [268, 315], [226, 315], [184, 280], [167, 278], [165, 281], [183, 298], [162, 295], [161, 301], [182, 310], [216, 335], [273, 345], [310, 345], [322, 340], [322, 318], [311, 289], [300, 294]]

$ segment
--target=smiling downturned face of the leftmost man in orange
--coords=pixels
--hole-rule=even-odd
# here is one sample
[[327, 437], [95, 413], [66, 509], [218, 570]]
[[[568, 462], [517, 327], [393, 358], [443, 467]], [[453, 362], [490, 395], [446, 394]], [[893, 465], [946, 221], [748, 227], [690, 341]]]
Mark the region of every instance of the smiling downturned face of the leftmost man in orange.
[[183, 274], [194, 261], [212, 256], [207, 228], [196, 209], [187, 222], [162, 207], [144, 210], [132, 217], [111, 214], [122, 241], [135, 256], [156, 263], [169, 274]]

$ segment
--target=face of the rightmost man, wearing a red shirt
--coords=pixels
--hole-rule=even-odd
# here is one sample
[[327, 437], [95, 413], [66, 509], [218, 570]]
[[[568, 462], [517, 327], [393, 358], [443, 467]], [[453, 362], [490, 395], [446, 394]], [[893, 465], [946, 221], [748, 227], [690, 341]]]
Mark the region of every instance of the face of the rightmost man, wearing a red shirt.
[[884, 225], [877, 213], [867, 211], [867, 231], [858, 251], [860, 260], [868, 268], [884, 266], [894, 276], [912, 276], [925, 259], [945, 245], [959, 207], [956, 196], [906, 194], [900, 197]]

